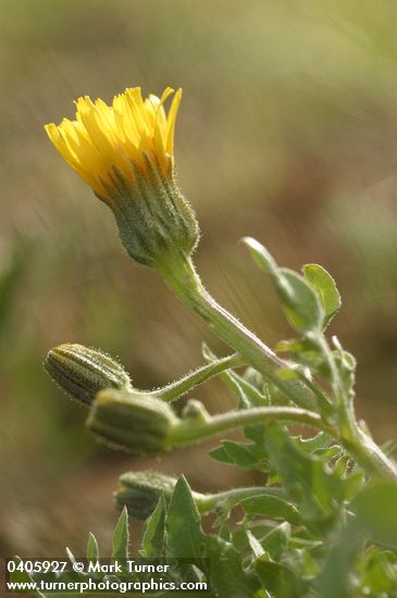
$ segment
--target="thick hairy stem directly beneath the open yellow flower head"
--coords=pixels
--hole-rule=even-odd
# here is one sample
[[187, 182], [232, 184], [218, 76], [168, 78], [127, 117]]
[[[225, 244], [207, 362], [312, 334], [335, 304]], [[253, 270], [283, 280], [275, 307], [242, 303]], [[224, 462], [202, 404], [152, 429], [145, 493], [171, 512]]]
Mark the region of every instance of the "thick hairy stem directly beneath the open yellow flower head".
[[247, 363], [273, 383], [299, 407], [315, 404], [313, 393], [298, 379], [283, 379], [280, 370], [288, 364], [229, 314], [207, 292], [190, 260], [158, 264], [158, 270], [176, 296], [198, 313], [215, 334], [237, 351]]

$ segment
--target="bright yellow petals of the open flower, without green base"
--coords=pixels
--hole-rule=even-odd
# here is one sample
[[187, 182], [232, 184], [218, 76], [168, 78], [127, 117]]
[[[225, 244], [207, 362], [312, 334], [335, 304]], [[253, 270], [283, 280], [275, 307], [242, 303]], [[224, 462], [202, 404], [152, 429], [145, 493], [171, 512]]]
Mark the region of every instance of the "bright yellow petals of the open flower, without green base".
[[137, 172], [148, 174], [149, 164], [163, 177], [172, 176], [182, 89], [166, 114], [164, 102], [173, 91], [168, 87], [161, 98], [150, 95], [144, 100], [140, 88], [133, 87], [115, 96], [112, 105], [85, 96], [75, 102], [75, 121], [64, 119], [60, 125], [51, 123], [45, 128], [70, 166], [110, 202], [116, 172], [133, 185]]

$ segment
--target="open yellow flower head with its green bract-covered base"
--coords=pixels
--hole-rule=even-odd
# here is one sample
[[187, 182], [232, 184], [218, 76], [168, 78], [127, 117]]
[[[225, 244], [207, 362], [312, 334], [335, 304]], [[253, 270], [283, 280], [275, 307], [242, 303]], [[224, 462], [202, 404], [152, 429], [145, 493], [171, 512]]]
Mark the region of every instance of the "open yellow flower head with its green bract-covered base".
[[46, 125], [52, 144], [112, 210], [121, 239], [138, 262], [159, 266], [189, 257], [198, 224], [174, 177], [174, 128], [182, 90], [144, 99], [139, 87], [112, 105], [89, 97], [76, 101], [76, 120]]

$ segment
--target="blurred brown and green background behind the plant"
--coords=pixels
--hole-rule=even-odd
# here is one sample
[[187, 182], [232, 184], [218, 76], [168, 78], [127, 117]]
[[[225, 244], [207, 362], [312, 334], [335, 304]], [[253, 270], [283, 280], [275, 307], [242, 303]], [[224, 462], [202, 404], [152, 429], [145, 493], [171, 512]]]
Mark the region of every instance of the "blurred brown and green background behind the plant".
[[[157, 462], [99, 447], [86, 412], [48, 379], [65, 341], [117, 356], [139, 388], [222, 346], [151, 271], [124, 253], [107, 207], [42, 125], [82, 95], [184, 88], [176, 162], [202, 229], [196, 261], [214, 296], [271, 346], [294, 333], [238, 244], [337, 279], [337, 334], [359, 363], [357, 409], [397, 439], [397, 4], [370, 0], [2, 0], [0, 3], [0, 550], [109, 550], [126, 469], [184, 472], [198, 490], [256, 482], [204, 446]], [[221, 383], [195, 397], [234, 404]], [[134, 527], [134, 543], [140, 526]]]

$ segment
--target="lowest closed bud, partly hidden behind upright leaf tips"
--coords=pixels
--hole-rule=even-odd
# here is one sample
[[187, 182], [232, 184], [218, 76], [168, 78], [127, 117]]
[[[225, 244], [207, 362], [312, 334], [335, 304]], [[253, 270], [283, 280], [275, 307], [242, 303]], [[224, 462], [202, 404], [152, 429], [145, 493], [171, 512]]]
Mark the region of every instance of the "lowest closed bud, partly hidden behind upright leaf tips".
[[114, 495], [116, 506], [119, 509], [126, 506], [131, 515], [144, 521], [154, 511], [161, 494], [171, 498], [175, 484], [175, 477], [158, 472], [123, 473]]

